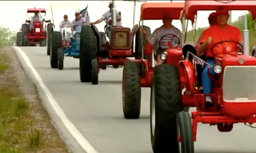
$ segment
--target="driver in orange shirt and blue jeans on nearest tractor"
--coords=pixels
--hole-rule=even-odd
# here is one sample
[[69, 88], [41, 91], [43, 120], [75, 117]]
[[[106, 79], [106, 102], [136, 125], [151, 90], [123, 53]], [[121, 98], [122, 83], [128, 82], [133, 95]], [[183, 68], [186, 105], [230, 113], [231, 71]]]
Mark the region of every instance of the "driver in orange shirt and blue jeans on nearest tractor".
[[[210, 65], [214, 65], [214, 57], [216, 55], [225, 54], [223, 51], [234, 43], [223, 42], [212, 49], [214, 44], [221, 41], [242, 42], [242, 35], [239, 29], [227, 24], [228, 17], [228, 11], [216, 11], [217, 24], [206, 29], [199, 40], [201, 46], [199, 47], [199, 50], [197, 50], [197, 56], [201, 56], [205, 53], [206, 62]], [[212, 106], [211, 97], [206, 96], [206, 94], [210, 94], [212, 92], [212, 81], [207, 74], [207, 69], [208, 66], [205, 65], [202, 72], [203, 93], [206, 99], [206, 106]], [[210, 73], [213, 76], [215, 75], [212, 67], [210, 67]]]

